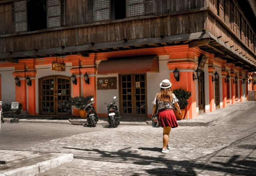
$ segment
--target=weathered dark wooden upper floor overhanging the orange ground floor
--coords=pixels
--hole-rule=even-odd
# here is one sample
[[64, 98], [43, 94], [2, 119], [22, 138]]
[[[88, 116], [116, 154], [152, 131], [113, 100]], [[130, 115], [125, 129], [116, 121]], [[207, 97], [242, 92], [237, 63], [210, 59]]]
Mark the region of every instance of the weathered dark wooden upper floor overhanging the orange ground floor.
[[194, 46], [195, 41], [208, 37], [209, 43], [201, 40], [196, 46], [238, 65], [248, 62], [251, 69], [256, 67], [256, 18], [250, 9], [256, 7], [253, 2], [0, 0], [0, 59], [192, 42]]

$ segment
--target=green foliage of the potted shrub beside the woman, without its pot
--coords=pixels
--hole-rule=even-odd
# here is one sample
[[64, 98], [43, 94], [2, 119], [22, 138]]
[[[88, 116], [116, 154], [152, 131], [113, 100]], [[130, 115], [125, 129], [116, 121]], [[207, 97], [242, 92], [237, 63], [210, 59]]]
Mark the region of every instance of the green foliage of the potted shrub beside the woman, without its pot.
[[178, 104], [179, 104], [180, 109], [185, 109], [185, 107], [188, 105], [187, 100], [191, 96], [191, 92], [181, 90], [181, 88], [179, 88], [179, 89], [173, 90], [172, 93], [174, 93], [174, 95], [179, 100]]

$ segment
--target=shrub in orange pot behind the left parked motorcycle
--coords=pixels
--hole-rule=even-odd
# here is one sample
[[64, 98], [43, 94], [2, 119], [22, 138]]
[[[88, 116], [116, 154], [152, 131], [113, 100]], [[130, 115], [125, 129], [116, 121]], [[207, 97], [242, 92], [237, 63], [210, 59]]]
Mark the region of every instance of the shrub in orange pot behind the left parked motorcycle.
[[87, 112], [85, 106], [90, 102], [94, 95], [89, 96], [76, 96], [69, 97], [68, 105], [73, 106], [75, 109], [78, 109], [79, 115], [81, 118], [87, 118]]

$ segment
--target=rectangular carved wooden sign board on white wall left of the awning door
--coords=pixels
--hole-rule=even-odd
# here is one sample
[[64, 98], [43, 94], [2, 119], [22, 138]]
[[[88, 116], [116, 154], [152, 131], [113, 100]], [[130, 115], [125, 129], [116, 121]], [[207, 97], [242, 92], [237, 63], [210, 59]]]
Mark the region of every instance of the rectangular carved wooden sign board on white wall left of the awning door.
[[117, 89], [117, 77], [97, 78], [97, 89]]

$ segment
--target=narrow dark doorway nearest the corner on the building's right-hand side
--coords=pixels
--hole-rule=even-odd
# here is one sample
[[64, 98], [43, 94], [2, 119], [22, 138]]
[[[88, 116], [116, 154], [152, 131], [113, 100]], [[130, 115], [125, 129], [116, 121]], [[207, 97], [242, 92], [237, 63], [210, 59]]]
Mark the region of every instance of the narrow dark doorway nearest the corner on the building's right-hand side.
[[205, 91], [204, 91], [204, 71], [200, 69], [200, 77], [198, 78], [198, 112], [205, 112]]

